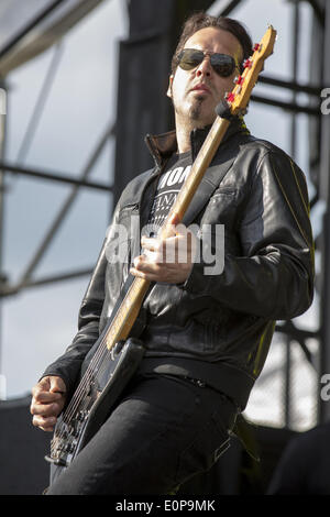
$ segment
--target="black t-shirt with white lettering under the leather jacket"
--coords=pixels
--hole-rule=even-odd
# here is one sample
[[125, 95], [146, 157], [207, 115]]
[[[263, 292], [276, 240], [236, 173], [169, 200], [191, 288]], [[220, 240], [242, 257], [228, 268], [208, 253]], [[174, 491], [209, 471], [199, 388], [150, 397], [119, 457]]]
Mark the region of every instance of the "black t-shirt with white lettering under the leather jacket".
[[172, 205], [193, 166], [191, 152], [174, 154], [160, 177], [153, 206], [148, 216], [148, 234], [156, 234], [163, 226]]

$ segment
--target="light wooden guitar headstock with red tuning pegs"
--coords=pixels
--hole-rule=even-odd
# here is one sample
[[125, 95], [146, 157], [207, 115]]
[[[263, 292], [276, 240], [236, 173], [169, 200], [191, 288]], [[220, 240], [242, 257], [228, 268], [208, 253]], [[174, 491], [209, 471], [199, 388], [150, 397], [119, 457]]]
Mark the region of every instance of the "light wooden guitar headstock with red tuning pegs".
[[241, 114], [246, 111], [252, 89], [254, 88], [258, 74], [263, 70], [265, 59], [273, 54], [276, 40], [276, 31], [268, 26], [263, 38], [253, 47], [253, 55], [244, 61], [244, 72], [235, 79], [235, 87], [226, 95], [227, 103], [231, 114]]

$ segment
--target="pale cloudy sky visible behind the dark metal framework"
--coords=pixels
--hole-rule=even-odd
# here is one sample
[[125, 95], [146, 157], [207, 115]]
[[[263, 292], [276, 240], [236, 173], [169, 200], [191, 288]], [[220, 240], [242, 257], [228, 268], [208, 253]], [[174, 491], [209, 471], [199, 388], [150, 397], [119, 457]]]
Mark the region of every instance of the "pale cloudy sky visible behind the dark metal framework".
[[[9, 162], [16, 163], [20, 158], [20, 164], [26, 167], [72, 176], [81, 173], [106, 128], [116, 122], [118, 45], [121, 40], [127, 38], [129, 29], [124, 3], [121, 0], [107, 0], [76, 25], [59, 47], [52, 47], [9, 75], [6, 150]], [[217, 2], [210, 12], [217, 14]], [[268, 23], [273, 24], [278, 37], [274, 54], [266, 61], [265, 73], [290, 79], [290, 2], [245, 0], [233, 11], [232, 16], [250, 29], [254, 42], [261, 40]], [[310, 7], [304, 2], [301, 18], [304, 37], [300, 41], [298, 80], [304, 84], [309, 81], [310, 52]], [[24, 135], [55, 54], [58, 57], [55, 80], [29, 152], [22, 154]], [[289, 100], [290, 95], [286, 90], [275, 90], [264, 85], [257, 85], [255, 92], [282, 100]], [[304, 102], [306, 99], [302, 96], [299, 100]], [[289, 120], [289, 114], [283, 110], [255, 102], [251, 103], [245, 117], [253, 134], [272, 141], [287, 152], [290, 152]], [[113, 170], [113, 151], [114, 142], [111, 142], [97, 162], [90, 179], [109, 182]], [[305, 116], [298, 117], [295, 158], [308, 178], [308, 124]], [[70, 187], [23, 176], [8, 177], [7, 186], [3, 268], [11, 282], [15, 282], [61, 210]], [[309, 190], [310, 194], [314, 193], [310, 183]], [[92, 266], [109, 224], [111, 209], [111, 197], [108, 194], [81, 189], [65, 223], [35, 271], [35, 277]], [[320, 206], [312, 215], [315, 231], [319, 231], [321, 212]], [[81, 277], [31, 288], [2, 301], [0, 366], [1, 374], [6, 377], [8, 398], [30, 393], [44, 369], [70, 343], [77, 329], [78, 309], [87, 283], [88, 278]], [[314, 306], [297, 319], [297, 324], [307, 329], [317, 327], [317, 297]], [[310, 345], [316, 349], [316, 343]], [[309, 381], [305, 383], [306, 394], [297, 403], [297, 418], [300, 427], [310, 427], [314, 422], [314, 400], [308, 394], [315, 389], [315, 374], [309, 365], [301, 363], [299, 353], [299, 346], [294, 346], [294, 360], [300, 364], [300, 371], [306, 370], [304, 376]], [[267, 373], [267, 369], [276, 369], [283, 362], [284, 354], [285, 349], [280, 343], [273, 346], [265, 372]], [[248, 409], [251, 417], [260, 418], [262, 410], [262, 418], [278, 422], [279, 404], [276, 415], [267, 396], [272, 397], [274, 389], [280, 391], [282, 380], [277, 376], [268, 392], [268, 388], [265, 389], [267, 378], [265, 375], [261, 389], [255, 389]]]

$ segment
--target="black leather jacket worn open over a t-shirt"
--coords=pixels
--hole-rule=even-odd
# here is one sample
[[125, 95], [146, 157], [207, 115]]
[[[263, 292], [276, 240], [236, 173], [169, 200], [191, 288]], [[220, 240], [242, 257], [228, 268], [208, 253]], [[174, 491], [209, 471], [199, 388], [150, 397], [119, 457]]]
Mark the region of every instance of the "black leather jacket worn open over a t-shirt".
[[[193, 160], [206, 134], [191, 133]], [[175, 133], [148, 136], [147, 144], [155, 168], [129, 183], [113, 215], [113, 222], [127, 229], [127, 239], [121, 241], [116, 227], [110, 228], [80, 307], [78, 333], [44, 372], [61, 375], [69, 392], [111, 314], [131, 260], [140, 253], [133, 216], [140, 216], [140, 229], [146, 224], [157, 178], [176, 150]], [[224, 226], [224, 267], [206, 274], [210, 264], [200, 253], [185, 284], [152, 287], [143, 305], [146, 354], [141, 370], [200, 378], [243, 409], [275, 321], [301, 315], [312, 301], [314, 243], [304, 174], [283, 151], [251, 136], [237, 120], [183, 222], [199, 226], [200, 243], [207, 241], [212, 253], [215, 226]], [[131, 245], [124, 248], [123, 241]], [[121, 261], [111, 260], [122, 245]]]

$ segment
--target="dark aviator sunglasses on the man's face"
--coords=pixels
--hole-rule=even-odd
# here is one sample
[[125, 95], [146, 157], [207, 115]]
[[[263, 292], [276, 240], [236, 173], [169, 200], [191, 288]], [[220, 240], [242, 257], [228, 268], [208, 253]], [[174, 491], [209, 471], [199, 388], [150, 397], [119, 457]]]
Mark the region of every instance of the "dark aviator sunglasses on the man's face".
[[208, 52], [198, 51], [197, 48], [184, 48], [178, 55], [178, 66], [183, 68], [183, 70], [193, 70], [200, 65], [205, 56], [210, 56], [210, 64], [220, 77], [229, 77], [232, 75], [233, 70], [238, 68], [232, 56], [217, 53], [210, 54]]

